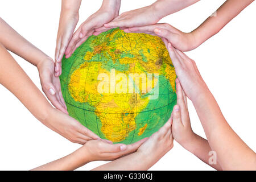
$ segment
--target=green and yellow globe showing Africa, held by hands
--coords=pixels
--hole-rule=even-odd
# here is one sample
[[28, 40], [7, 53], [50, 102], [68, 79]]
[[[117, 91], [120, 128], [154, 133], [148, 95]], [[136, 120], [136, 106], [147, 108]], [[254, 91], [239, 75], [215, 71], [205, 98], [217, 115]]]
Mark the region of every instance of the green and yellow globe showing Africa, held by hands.
[[102, 139], [130, 144], [168, 121], [175, 78], [162, 39], [114, 28], [64, 56], [60, 82], [71, 117]]

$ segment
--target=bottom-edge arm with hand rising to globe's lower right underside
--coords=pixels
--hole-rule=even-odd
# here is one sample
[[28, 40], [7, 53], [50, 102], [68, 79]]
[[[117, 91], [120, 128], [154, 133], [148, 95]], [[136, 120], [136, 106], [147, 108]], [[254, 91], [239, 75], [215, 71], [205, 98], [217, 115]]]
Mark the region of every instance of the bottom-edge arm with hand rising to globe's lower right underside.
[[174, 146], [171, 132], [171, 119], [152, 134], [133, 154], [96, 167], [93, 170], [147, 170], [161, 159]]

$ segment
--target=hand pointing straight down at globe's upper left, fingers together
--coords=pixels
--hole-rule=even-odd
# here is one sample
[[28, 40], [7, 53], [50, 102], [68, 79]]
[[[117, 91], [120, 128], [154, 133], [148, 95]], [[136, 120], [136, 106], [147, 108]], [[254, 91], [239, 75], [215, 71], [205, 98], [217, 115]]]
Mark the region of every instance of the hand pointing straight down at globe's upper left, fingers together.
[[75, 31], [77, 22], [79, 20], [79, 13], [61, 11], [59, 30], [57, 34], [57, 43], [55, 49], [55, 76], [61, 75], [61, 59], [66, 51], [69, 41]]

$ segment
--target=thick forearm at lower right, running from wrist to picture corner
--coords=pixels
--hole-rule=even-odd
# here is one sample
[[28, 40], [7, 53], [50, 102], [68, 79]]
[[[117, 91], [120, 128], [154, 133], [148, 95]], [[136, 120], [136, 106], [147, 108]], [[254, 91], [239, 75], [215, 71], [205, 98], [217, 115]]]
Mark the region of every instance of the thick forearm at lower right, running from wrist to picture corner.
[[222, 169], [255, 169], [255, 152], [228, 125], [212, 94], [205, 91], [192, 102]]

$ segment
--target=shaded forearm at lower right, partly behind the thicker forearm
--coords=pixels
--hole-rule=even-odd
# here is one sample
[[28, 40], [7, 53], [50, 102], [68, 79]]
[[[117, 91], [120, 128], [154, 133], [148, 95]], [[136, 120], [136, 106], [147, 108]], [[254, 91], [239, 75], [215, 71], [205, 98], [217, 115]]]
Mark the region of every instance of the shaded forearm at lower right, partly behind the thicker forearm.
[[218, 164], [217, 162], [217, 159], [209, 161], [209, 152], [212, 151], [212, 149], [210, 148], [209, 143], [206, 139], [195, 134], [193, 139], [189, 140], [188, 143], [185, 143], [182, 146], [192, 154], [196, 155], [197, 158], [202, 160], [204, 163], [208, 164], [214, 169], [222, 170], [220, 164]]

